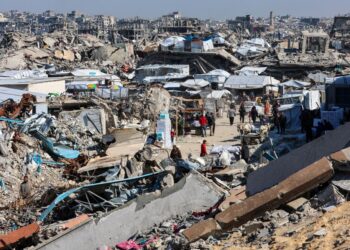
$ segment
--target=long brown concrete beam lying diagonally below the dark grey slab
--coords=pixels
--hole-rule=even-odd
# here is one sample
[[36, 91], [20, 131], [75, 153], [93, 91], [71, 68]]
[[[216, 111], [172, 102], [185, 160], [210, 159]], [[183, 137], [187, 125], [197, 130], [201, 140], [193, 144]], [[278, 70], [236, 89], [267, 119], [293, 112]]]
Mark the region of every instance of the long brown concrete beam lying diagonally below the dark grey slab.
[[331, 163], [326, 158], [322, 158], [291, 175], [278, 185], [251, 196], [241, 203], [232, 205], [217, 214], [215, 219], [223, 229], [239, 227], [267, 210], [275, 209], [325, 183], [332, 176]]

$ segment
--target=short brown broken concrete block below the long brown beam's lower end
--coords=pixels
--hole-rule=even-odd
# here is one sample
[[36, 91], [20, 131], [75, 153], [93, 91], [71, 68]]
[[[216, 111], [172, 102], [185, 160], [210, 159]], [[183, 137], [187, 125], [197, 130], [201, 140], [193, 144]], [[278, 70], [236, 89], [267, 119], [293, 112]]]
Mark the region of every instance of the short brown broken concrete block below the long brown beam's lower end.
[[207, 238], [209, 235], [213, 235], [219, 230], [219, 225], [211, 218], [194, 224], [190, 228], [184, 230], [182, 234], [189, 242], [193, 242], [201, 238]]

